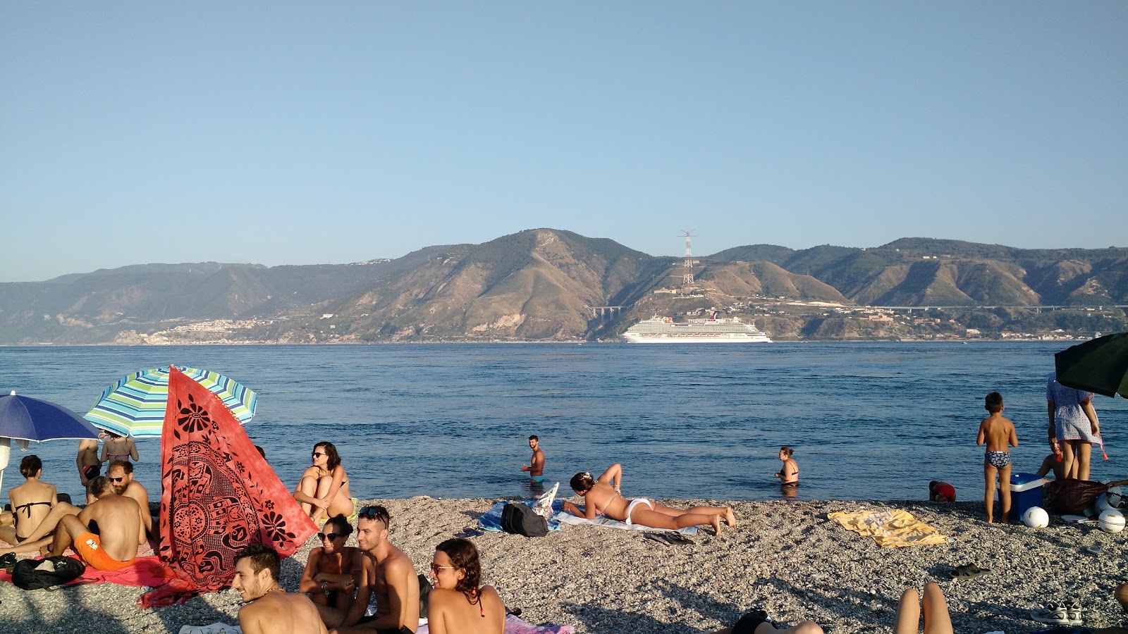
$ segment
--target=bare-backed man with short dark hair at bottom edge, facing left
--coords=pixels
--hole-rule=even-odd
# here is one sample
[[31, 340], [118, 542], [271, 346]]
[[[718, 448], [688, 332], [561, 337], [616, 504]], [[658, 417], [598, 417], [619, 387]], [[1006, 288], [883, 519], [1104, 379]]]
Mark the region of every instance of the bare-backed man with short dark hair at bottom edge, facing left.
[[325, 634], [314, 601], [279, 588], [279, 554], [270, 546], [247, 546], [235, 556], [231, 588], [247, 605], [239, 609], [244, 634]]

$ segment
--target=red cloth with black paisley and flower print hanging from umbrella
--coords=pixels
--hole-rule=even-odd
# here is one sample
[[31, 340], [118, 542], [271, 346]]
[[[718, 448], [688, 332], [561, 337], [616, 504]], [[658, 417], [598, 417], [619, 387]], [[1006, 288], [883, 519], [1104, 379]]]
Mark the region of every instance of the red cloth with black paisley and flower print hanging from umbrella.
[[265, 544], [282, 557], [317, 532], [243, 425], [208, 388], [169, 370], [160, 437], [160, 561], [176, 578], [142, 607], [183, 602], [230, 584], [235, 555]]

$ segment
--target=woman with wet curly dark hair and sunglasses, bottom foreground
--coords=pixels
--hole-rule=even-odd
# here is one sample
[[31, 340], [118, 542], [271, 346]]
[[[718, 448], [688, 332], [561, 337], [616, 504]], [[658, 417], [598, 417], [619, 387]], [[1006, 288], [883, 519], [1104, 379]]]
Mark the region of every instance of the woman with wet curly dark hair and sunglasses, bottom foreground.
[[428, 602], [431, 634], [502, 634], [505, 605], [492, 585], [482, 585], [478, 549], [467, 539], [439, 544], [431, 560], [434, 589]]

